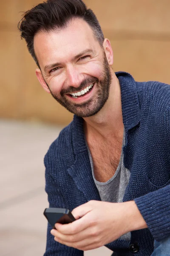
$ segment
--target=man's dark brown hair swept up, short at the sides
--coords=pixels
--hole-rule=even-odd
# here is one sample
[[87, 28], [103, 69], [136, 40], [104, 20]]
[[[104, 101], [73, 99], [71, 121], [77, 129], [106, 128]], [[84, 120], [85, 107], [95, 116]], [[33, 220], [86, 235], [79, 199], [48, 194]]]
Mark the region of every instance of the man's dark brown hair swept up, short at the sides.
[[47, 0], [24, 13], [18, 23], [21, 38], [26, 40], [28, 51], [34, 58], [38, 67], [37, 57], [34, 52], [34, 36], [39, 31], [51, 31], [56, 28], [65, 28], [74, 18], [85, 20], [94, 32], [94, 36], [102, 46], [104, 35], [91, 9], [88, 9], [82, 0]]

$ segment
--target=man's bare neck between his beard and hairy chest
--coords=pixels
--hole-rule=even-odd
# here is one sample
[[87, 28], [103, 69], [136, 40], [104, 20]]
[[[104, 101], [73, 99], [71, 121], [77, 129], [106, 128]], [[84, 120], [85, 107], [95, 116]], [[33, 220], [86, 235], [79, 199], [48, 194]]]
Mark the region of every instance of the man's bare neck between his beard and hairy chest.
[[123, 133], [122, 103], [119, 80], [115, 73], [110, 87], [109, 98], [103, 108], [94, 116], [84, 118], [85, 134], [100, 134], [103, 138], [121, 137]]

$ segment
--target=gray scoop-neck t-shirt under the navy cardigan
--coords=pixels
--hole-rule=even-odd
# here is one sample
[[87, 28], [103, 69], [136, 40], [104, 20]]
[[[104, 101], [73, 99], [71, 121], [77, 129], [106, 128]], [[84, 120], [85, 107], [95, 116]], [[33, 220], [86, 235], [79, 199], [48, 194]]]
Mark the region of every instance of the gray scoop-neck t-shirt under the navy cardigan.
[[[87, 142], [86, 142], [87, 144]], [[124, 131], [124, 136], [123, 136], [123, 145], [125, 145], [125, 131]], [[87, 145], [88, 147], [88, 145]], [[101, 198], [101, 201], [106, 201], [106, 202], [111, 202], [111, 203], [120, 203], [123, 201], [123, 197], [125, 195], [125, 190], [127, 187], [127, 184], [129, 182], [130, 178], [130, 171], [125, 168], [124, 163], [123, 163], [123, 150], [121, 153], [119, 165], [116, 169], [115, 174], [113, 177], [111, 177], [110, 180], [107, 182], [99, 182], [98, 180], [95, 179], [94, 177], [94, 165], [93, 165], [93, 160], [91, 157], [91, 152], [88, 148], [88, 154], [90, 158], [90, 163], [91, 163], [91, 170], [92, 170], [92, 175], [94, 178], [94, 182], [96, 184], [96, 187], [99, 191], [99, 195]], [[130, 241], [131, 234], [126, 233], [125, 235], [121, 236], [119, 239], [124, 239], [126, 241]]]

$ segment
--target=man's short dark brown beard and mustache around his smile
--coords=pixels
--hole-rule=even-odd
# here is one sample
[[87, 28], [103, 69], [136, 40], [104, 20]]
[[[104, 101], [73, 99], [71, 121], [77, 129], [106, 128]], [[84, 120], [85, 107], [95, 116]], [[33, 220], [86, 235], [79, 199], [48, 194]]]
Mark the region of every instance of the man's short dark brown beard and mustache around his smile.
[[[103, 52], [103, 77], [101, 80], [97, 79], [94, 76], [90, 76], [86, 79], [84, 79], [80, 86], [78, 88], [75, 87], [69, 87], [68, 89], [62, 89], [60, 92], [60, 97], [55, 95], [49, 88], [51, 92], [51, 95], [59, 104], [61, 104], [64, 108], [66, 108], [69, 112], [80, 116], [80, 117], [89, 117], [89, 116], [94, 116], [96, 113], [98, 113], [103, 106], [105, 105], [106, 101], [108, 100], [109, 97], [109, 91], [110, 91], [110, 86], [111, 86], [111, 81], [112, 81], [112, 76], [111, 76], [111, 70], [110, 66], [108, 64], [108, 60], [106, 58], [105, 52]], [[82, 103], [74, 103], [71, 102], [65, 94], [68, 93], [74, 93], [75, 91], [81, 91], [85, 87], [87, 87], [90, 84], [93, 84], [95, 82], [95, 86], [97, 88], [97, 92], [93, 96], [92, 99], [89, 99], [86, 102]]]

